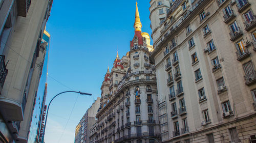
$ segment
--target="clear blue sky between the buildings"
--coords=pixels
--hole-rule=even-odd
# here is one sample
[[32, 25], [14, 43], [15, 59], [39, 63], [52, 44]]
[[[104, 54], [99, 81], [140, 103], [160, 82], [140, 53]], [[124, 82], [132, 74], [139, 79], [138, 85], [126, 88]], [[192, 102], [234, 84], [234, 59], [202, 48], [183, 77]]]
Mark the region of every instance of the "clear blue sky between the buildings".
[[[48, 94], [56, 94], [49, 109], [45, 142], [74, 142], [75, 127], [97, 97], [108, 66], [112, 68], [117, 49], [122, 57], [134, 36], [135, 0], [53, 2], [46, 30], [51, 34]], [[138, 1], [142, 32], [151, 35], [150, 1]], [[65, 87], [66, 85], [66, 87]]]

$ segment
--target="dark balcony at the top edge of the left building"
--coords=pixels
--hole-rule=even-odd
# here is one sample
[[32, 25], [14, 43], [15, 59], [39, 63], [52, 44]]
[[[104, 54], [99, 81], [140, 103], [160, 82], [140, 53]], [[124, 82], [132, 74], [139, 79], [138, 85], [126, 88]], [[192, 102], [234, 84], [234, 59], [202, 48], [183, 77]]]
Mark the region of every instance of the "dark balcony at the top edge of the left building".
[[26, 17], [29, 11], [31, 0], [20, 0], [17, 1], [18, 16]]

